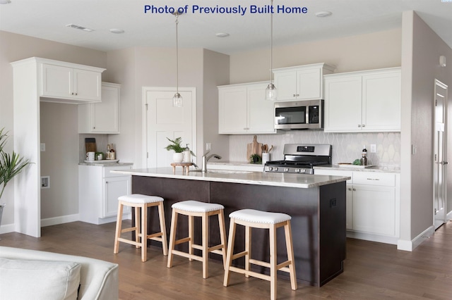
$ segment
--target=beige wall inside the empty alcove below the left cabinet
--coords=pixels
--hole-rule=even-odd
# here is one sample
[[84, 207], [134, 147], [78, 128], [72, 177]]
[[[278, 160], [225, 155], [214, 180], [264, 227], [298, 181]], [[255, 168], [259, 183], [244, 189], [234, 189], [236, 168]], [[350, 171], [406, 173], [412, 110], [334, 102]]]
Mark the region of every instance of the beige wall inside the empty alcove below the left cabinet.
[[41, 176], [50, 188], [41, 189], [41, 219], [78, 214], [78, 108], [73, 104], [40, 103]]

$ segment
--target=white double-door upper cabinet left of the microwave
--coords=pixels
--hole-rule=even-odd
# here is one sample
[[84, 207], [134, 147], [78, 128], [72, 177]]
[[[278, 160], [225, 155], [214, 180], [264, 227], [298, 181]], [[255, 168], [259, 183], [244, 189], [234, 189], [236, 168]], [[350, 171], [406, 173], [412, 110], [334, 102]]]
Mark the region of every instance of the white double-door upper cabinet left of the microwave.
[[218, 87], [218, 133], [275, 133], [273, 101], [266, 101], [268, 82]]

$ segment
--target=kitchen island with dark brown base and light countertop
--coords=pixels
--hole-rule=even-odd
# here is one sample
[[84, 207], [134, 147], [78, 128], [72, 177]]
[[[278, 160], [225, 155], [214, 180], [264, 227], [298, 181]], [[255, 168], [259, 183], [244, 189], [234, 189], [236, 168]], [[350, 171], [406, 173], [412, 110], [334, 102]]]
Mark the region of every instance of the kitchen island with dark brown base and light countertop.
[[[345, 181], [350, 177], [327, 175], [295, 175], [213, 170], [210, 173], [191, 171], [173, 175], [171, 168], [113, 171], [133, 175], [132, 192], [162, 196], [165, 199], [167, 235], [171, 223], [171, 206], [178, 201], [197, 200], [225, 206], [225, 222], [229, 231], [229, 214], [243, 208], [287, 213], [292, 216], [292, 239], [297, 281], [321, 287], [343, 273], [345, 259]], [[157, 212], [150, 211], [149, 232], [159, 228]], [[195, 223], [200, 232], [201, 220]], [[178, 220], [178, 237], [188, 232], [186, 218]], [[282, 230], [282, 228], [278, 229]], [[218, 219], [210, 218], [210, 244], [219, 244]], [[196, 231], [195, 231], [196, 235]], [[253, 258], [269, 260], [268, 231], [254, 229], [251, 253]], [[161, 246], [156, 243], [156, 246]], [[179, 245], [186, 251], [186, 243]], [[235, 252], [244, 250], [244, 229], [237, 231]], [[217, 254], [210, 258], [220, 261]], [[287, 258], [283, 231], [278, 231], [278, 261]], [[244, 265], [244, 260], [234, 261]], [[254, 266], [265, 273], [266, 268]], [[285, 273], [278, 274], [285, 277]]]

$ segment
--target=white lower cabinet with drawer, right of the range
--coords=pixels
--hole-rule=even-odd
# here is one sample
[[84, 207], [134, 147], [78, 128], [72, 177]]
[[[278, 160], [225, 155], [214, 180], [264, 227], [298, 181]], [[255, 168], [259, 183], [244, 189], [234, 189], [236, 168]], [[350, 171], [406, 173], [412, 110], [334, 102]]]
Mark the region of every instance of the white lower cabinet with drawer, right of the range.
[[397, 244], [400, 220], [398, 173], [316, 169], [316, 175], [347, 180], [347, 237]]

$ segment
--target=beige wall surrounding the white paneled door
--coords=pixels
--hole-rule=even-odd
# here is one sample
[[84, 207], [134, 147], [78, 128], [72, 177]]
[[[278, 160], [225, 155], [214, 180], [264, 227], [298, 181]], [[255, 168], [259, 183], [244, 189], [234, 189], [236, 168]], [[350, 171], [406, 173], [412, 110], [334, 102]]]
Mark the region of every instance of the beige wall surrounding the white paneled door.
[[[135, 168], [141, 168], [143, 166], [141, 91], [143, 87], [173, 87], [175, 91], [175, 49], [137, 47], [110, 51], [107, 57], [105, 80], [121, 84], [121, 134], [109, 135], [109, 141], [117, 144], [117, 154], [121, 161], [133, 162]], [[227, 83], [228, 77], [229, 57], [225, 54], [204, 49], [179, 49], [179, 87], [196, 87], [198, 159], [203, 154], [205, 139], [212, 142], [213, 151], [215, 146], [227, 148], [227, 137], [217, 135], [216, 87]]]

